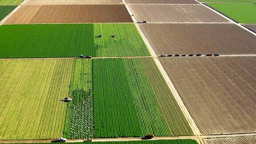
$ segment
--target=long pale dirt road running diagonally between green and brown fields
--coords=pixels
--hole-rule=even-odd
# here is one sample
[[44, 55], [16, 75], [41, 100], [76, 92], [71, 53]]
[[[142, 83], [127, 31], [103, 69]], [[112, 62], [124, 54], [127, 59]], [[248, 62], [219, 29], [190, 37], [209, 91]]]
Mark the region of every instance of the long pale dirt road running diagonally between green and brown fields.
[[[124, 1], [124, 0], [123, 0]], [[125, 2], [125, 1], [124, 1]], [[128, 12], [131, 14], [130, 9], [128, 8], [127, 4], [126, 4], [126, 8], [128, 10]], [[132, 16], [133, 17], [133, 16]], [[136, 21], [136, 19], [134, 18], [134, 21]], [[148, 40], [146, 39], [146, 37], [144, 36], [144, 33], [142, 32], [142, 30], [140, 29], [139, 24], [135, 24], [138, 31], [140, 32], [140, 35], [143, 37], [143, 40], [145, 42], [145, 44], [147, 45], [148, 50], [151, 52], [151, 55], [154, 56], [153, 60], [155, 61], [155, 64], [157, 65], [157, 68], [160, 70], [162, 76], [164, 77], [164, 80], [166, 81], [166, 83], [168, 84], [168, 87], [170, 88], [177, 104], [179, 105], [182, 113], [184, 114], [186, 120], [188, 121], [188, 124], [190, 126], [190, 128], [192, 129], [192, 132], [198, 136], [201, 135], [201, 132], [199, 131], [199, 128], [196, 126], [195, 121], [192, 119], [192, 116], [190, 115], [190, 113], [188, 112], [188, 109], [186, 108], [186, 106], [184, 105], [182, 99], [180, 98], [180, 95], [178, 94], [178, 92], [176, 91], [176, 88], [174, 87], [174, 85], [172, 84], [172, 81], [170, 80], [170, 78], [168, 77], [167, 73], [165, 72], [162, 64], [160, 63], [160, 61], [158, 60], [158, 58], [156, 57], [156, 53], [153, 50], [153, 48], [151, 47], [151, 45], [149, 44]]]

